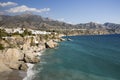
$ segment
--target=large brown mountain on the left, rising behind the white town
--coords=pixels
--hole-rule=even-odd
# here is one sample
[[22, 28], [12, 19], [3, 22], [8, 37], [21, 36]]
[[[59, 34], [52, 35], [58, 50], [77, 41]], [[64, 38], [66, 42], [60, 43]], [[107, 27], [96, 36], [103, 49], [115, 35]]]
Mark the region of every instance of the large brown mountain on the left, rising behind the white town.
[[1, 15], [1, 27], [25, 27], [32, 29], [60, 29], [67, 27], [72, 28], [72, 25], [64, 22], [59, 22], [49, 18], [43, 18], [38, 15], [23, 14], [16, 16]]

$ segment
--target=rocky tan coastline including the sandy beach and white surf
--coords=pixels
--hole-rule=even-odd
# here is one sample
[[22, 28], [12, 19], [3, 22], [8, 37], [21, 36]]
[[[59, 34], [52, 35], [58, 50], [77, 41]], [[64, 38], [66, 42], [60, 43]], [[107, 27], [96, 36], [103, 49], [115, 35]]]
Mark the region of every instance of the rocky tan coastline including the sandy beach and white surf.
[[0, 79], [30, 80], [31, 76], [34, 75], [31, 71], [32, 67], [34, 64], [40, 62], [40, 56], [43, 51], [47, 48], [55, 48], [58, 46], [58, 42], [63, 41], [61, 36], [48, 40], [44, 40], [43, 38], [43, 41], [39, 38], [39, 36], [24, 38], [8, 37], [1, 40], [3, 45], [6, 45], [5, 41], [7, 40], [11, 40], [13, 43], [22, 42], [23, 44], [18, 45], [15, 43], [16, 47], [0, 50]]

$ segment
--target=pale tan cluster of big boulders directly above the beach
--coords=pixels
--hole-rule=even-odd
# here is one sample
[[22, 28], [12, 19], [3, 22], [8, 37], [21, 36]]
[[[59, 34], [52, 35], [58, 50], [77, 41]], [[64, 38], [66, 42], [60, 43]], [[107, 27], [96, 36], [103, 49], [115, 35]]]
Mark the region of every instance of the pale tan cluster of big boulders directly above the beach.
[[37, 63], [39, 61], [36, 53], [9, 48], [0, 53], [0, 72], [11, 71], [11, 69], [27, 71], [26, 63]]

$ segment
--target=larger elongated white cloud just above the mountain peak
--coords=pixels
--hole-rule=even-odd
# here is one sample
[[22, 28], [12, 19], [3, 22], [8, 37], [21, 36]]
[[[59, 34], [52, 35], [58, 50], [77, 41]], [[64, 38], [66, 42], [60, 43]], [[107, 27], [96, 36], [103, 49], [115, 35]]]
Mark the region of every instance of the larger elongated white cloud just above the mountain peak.
[[50, 11], [50, 8], [43, 8], [43, 9], [36, 9], [36, 8], [29, 8], [26, 5], [10, 8], [9, 10], [6, 10], [9, 13], [22, 13], [22, 12], [48, 12]]

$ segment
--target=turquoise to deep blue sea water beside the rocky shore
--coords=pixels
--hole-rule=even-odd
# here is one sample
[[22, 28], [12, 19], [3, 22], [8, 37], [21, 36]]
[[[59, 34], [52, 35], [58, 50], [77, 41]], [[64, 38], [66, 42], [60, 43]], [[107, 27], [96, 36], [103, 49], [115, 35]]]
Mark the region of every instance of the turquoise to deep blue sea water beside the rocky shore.
[[43, 53], [33, 80], [120, 80], [120, 35], [68, 38]]

